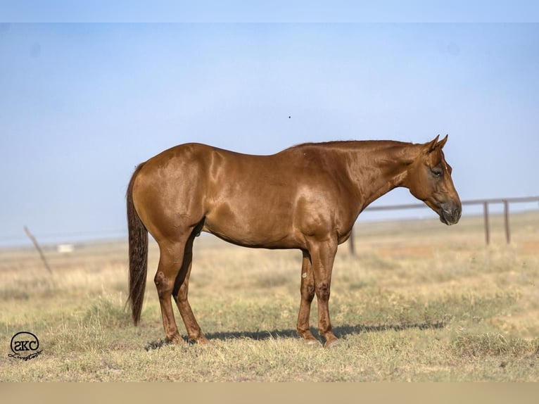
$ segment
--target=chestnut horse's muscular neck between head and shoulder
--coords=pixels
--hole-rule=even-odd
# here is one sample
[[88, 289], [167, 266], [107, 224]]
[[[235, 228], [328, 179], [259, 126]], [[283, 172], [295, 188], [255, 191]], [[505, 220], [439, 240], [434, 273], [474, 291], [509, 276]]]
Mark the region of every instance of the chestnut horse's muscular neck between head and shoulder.
[[350, 176], [360, 194], [360, 210], [391, 189], [406, 187], [407, 170], [417, 158], [419, 145], [373, 141], [350, 159]]

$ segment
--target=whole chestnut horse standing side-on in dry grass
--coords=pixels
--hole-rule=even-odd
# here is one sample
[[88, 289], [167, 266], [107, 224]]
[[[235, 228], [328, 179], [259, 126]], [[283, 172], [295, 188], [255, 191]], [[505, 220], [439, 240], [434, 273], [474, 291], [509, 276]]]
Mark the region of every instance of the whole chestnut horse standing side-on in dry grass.
[[183, 144], [141, 163], [127, 189], [128, 303], [134, 324], [141, 316], [150, 232], [160, 250], [154, 281], [166, 338], [183, 341], [172, 297], [189, 339], [208, 342], [187, 293], [193, 241], [210, 232], [239, 246], [299, 249], [298, 334], [317, 343], [309, 325], [316, 295], [319, 335], [324, 346], [331, 346], [338, 341], [328, 305], [337, 246], [348, 239], [369, 203], [406, 187], [443, 223], [458, 222], [462, 207], [442, 151], [447, 139], [307, 143], [272, 156]]

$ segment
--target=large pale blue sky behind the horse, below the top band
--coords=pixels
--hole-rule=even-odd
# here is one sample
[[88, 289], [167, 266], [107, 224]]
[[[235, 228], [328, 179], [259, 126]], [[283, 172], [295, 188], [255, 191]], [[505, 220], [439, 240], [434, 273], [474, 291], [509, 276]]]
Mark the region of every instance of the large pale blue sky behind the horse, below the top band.
[[538, 128], [538, 24], [2, 24], [0, 245], [27, 243], [23, 225], [122, 236], [134, 166], [188, 141], [448, 133], [463, 200], [536, 196]]

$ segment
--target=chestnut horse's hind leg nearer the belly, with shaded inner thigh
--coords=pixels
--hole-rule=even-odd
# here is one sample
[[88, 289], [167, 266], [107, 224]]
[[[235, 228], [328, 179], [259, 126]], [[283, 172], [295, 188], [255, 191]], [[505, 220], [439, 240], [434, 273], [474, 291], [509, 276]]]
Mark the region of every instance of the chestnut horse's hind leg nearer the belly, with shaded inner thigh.
[[198, 234], [197, 229], [194, 230], [186, 243], [182, 268], [177, 274], [172, 297], [176, 301], [179, 314], [182, 315], [182, 320], [184, 320], [189, 340], [197, 341], [198, 343], [207, 343], [208, 340], [202, 334], [201, 327], [198, 326], [193, 310], [191, 310], [191, 305], [187, 300], [187, 293], [189, 292], [189, 275], [191, 274], [191, 265], [193, 263], [193, 242], [196, 234]]

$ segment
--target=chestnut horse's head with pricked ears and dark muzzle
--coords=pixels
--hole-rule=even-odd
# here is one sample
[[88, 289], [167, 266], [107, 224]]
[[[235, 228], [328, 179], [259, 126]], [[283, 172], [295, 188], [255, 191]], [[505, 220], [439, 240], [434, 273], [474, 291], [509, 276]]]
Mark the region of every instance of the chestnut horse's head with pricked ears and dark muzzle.
[[460, 219], [462, 205], [451, 179], [451, 166], [443, 156], [447, 135], [421, 146], [419, 156], [407, 172], [407, 185], [413, 196], [424, 201], [440, 216], [446, 225], [455, 225]]

